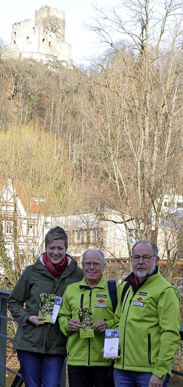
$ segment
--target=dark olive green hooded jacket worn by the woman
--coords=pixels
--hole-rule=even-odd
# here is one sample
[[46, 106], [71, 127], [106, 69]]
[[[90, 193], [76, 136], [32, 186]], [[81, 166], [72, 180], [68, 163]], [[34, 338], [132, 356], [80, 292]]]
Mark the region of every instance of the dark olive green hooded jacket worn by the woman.
[[[27, 266], [8, 298], [8, 309], [19, 326], [13, 348], [37, 353], [66, 355], [67, 338], [60, 332], [58, 321], [38, 327], [27, 319], [38, 316], [41, 293], [63, 296], [69, 284], [81, 281], [83, 271], [68, 257], [68, 266], [56, 279], [43, 264], [43, 256], [34, 265]], [[25, 307], [24, 307], [25, 304]]]

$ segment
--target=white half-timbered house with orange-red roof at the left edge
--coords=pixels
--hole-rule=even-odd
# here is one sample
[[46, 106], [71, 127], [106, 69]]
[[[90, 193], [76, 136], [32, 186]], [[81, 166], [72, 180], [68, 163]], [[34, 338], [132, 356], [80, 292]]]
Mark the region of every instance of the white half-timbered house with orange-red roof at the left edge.
[[43, 199], [29, 197], [19, 183], [12, 183], [8, 179], [2, 189], [0, 201], [7, 254], [14, 260], [15, 254], [18, 253], [22, 266], [26, 266], [35, 261], [43, 247]]

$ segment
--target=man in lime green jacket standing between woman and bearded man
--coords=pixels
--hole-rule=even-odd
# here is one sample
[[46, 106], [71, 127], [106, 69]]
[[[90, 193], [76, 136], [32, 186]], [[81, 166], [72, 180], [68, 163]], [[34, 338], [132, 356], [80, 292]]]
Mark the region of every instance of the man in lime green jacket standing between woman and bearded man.
[[[59, 311], [60, 330], [68, 336], [67, 370], [69, 387], [111, 387], [108, 381], [110, 362], [103, 357], [105, 330], [115, 324], [113, 303], [104, 277], [104, 253], [89, 248], [82, 255], [83, 281], [77, 286], [68, 286], [63, 295]], [[121, 285], [116, 284], [116, 297], [119, 301]], [[80, 338], [78, 310], [89, 308], [92, 311], [94, 337]], [[91, 320], [87, 318], [86, 324]]]

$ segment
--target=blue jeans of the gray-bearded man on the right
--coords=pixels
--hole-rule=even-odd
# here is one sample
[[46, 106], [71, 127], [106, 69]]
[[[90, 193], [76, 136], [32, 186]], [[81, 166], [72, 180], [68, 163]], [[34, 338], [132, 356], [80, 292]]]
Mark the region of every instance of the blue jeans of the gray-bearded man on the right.
[[[149, 387], [151, 372], [137, 372], [114, 369], [115, 387]], [[170, 375], [166, 375], [162, 387], [167, 387]]]

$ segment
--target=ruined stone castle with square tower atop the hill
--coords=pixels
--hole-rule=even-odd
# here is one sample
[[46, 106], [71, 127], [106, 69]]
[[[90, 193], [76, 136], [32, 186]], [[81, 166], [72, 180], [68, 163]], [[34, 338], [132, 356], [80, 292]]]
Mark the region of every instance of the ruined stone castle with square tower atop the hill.
[[44, 5], [35, 11], [34, 24], [31, 19], [12, 24], [11, 42], [4, 52], [4, 58], [59, 61], [72, 69], [71, 45], [65, 43], [65, 12]]

